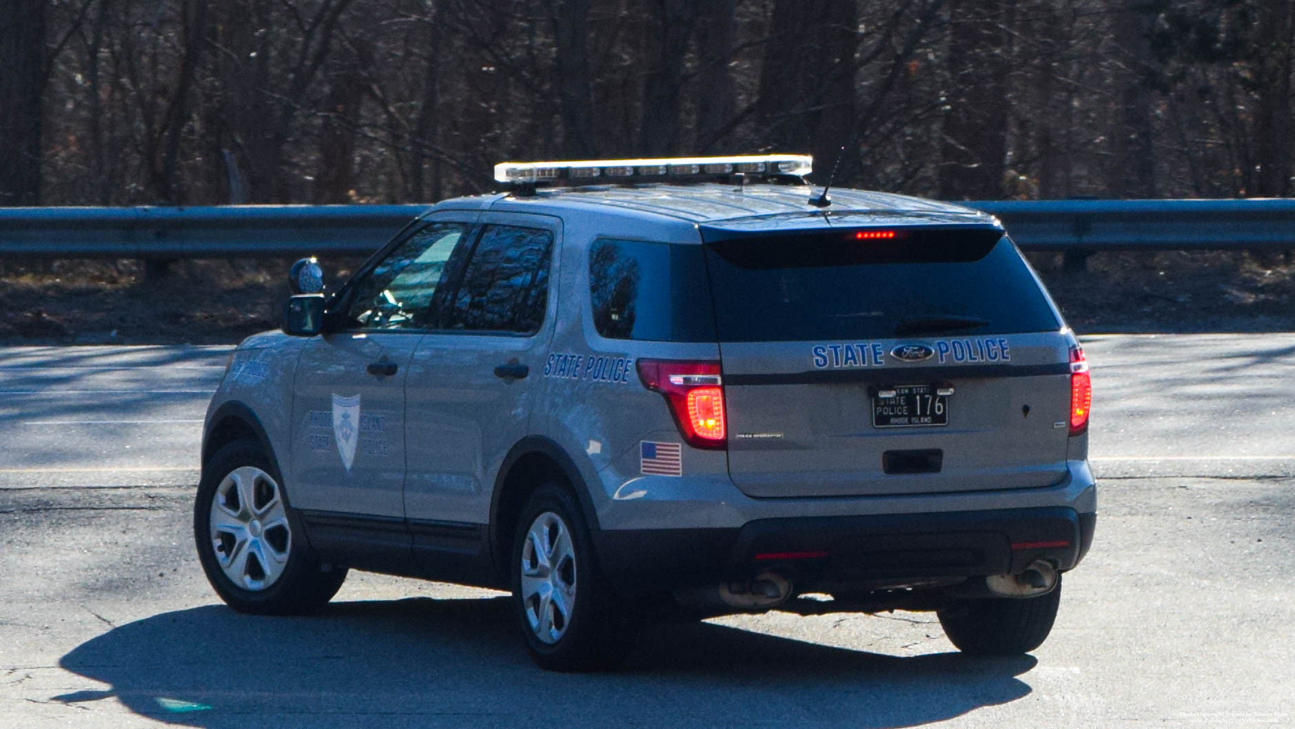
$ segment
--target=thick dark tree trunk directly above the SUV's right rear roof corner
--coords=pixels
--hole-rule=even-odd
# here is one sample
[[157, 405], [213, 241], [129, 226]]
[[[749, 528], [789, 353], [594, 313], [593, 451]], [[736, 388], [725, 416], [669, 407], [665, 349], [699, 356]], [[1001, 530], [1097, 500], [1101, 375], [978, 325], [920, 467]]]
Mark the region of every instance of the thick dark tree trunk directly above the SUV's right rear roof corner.
[[949, 3], [949, 93], [940, 197], [997, 199], [1008, 155], [1006, 18], [1013, 0]]

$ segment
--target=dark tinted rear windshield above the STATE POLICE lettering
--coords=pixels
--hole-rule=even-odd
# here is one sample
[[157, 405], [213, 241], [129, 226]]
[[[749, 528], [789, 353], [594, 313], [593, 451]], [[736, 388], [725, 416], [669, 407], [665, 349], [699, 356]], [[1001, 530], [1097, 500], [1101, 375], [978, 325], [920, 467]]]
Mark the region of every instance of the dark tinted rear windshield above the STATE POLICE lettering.
[[886, 236], [891, 232], [717, 241], [708, 234], [719, 338], [884, 339], [1061, 328], [1001, 230], [899, 229]]

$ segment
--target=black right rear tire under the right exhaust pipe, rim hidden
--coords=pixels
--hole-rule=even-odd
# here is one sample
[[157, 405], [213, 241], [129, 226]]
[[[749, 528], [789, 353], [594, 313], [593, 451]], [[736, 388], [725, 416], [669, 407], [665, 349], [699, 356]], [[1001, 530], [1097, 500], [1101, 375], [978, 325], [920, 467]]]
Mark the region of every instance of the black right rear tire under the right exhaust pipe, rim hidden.
[[969, 655], [1020, 655], [1041, 646], [1061, 605], [1061, 575], [1048, 594], [961, 600], [938, 612], [949, 641]]

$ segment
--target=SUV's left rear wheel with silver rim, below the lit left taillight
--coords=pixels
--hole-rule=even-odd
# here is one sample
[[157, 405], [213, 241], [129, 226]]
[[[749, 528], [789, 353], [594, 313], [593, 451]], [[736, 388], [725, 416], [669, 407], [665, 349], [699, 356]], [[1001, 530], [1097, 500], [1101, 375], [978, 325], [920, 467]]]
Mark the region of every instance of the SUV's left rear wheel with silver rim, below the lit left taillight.
[[558, 484], [536, 488], [522, 509], [512, 588], [526, 650], [546, 671], [613, 668], [633, 644], [631, 612], [602, 584], [579, 505]]

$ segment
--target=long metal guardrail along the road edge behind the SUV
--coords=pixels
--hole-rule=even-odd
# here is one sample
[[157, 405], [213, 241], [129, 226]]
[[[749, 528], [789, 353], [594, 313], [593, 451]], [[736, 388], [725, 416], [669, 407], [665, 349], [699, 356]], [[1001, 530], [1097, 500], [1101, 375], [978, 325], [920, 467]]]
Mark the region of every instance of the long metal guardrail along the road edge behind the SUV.
[[[1031, 251], [1295, 249], [1295, 199], [965, 202]], [[366, 255], [426, 205], [0, 208], [6, 258]]]

